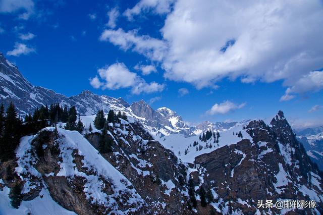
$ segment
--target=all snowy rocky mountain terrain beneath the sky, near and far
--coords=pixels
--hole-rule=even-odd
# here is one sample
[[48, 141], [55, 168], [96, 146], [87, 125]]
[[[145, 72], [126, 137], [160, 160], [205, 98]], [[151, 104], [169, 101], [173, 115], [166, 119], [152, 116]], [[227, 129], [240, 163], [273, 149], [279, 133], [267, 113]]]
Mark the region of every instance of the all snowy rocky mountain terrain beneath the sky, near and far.
[[311, 159], [321, 134], [309, 136], [307, 148], [282, 111], [270, 122], [189, 127], [144, 100], [35, 87], [3, 55], [0, 82], [6, 108], [15, 103], [20, 116], [59, 103], [75, 106], [82, 122], [77, 131], [44, 119], [20, 138], [0, 163], [1, 214], [323, 213], [323, 174]]

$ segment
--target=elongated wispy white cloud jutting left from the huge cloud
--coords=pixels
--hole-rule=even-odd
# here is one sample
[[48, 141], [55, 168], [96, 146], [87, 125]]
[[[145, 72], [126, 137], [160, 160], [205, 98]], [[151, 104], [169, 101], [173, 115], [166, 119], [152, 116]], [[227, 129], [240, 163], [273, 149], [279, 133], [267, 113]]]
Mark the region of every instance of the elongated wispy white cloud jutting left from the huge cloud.
[[150, 36], [138, 36], [137, 31], [125, 32], [118, 30], [104, 30], [100, 36], [101, 41], [110, 41], [123, 50], [131, 49], [154, 61], [161, 61], [166, 53], [167, 46], [164, 41]]

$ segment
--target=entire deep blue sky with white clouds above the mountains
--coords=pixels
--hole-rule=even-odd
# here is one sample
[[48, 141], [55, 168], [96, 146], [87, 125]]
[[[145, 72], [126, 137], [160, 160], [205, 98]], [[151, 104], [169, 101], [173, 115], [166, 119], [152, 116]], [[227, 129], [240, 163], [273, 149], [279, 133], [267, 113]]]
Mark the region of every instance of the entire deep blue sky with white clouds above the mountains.
[[67, 96], [143, 98], [193, 124], [278, 110], [294, 127], [321, 124], [322, 2], [207, 2], [5, 0], [0, 51]]

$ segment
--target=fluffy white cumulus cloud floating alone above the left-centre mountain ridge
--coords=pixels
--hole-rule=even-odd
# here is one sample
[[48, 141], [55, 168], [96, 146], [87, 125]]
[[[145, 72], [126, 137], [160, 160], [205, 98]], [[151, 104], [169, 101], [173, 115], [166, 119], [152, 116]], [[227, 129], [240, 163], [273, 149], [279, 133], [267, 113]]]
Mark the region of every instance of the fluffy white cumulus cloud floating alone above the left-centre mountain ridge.
[[94, 88], [101, 87], [102, 89], [111, 90], [131, 88], [131, 93], [133, 94], [160, 92], [165, 88], [164, 84], [147, 83], [136, 73], [130, 72], [123, 63], [115, 63], [98, 69], [98, 74], [101, 81], [97, 76], [89, 79]]

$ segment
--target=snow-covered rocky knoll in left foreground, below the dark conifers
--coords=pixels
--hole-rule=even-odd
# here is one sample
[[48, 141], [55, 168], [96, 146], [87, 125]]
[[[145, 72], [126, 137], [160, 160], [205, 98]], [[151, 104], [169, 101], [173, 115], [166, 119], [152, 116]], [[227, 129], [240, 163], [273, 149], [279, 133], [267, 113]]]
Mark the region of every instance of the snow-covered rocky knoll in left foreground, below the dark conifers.
[[[18, 167], [15, 172], [23, 184], [21, 193], [29, 196], [28, 200], [31, 201], [23, 201], [18, 209], [12, 208], [8, 205], [10, 189], [5, 186], [1, 192], [4, 203], [0, 206], [0, 212], [26, 214], [31, 210], [34, 214], [33, 210], [37, 210], [38, 214], [44, 214], [46, 211], [47, 214], [72, 213], [62, 208], [51, 196], [65, 207], [71, 203], [65, 202], [64, 196], [70, 202], [81, 201], [84, 206], [71, 208], [81, 213], [87, 207], [95, 207], [102, 213], [116, 214], [134, 213], [145, 207], [145, 201], [131, 182], [107, 162], [79, 132], [58, 128], [57, 139], [42, 142], [39, 135], [46, 131], [55, 132], [55, 128], [47, 127], [38, 135], [23, 137], [16, 151]], [[51, 155], [45, 152], [41, 154], [38, 147], [42, 150], [48, 148]], [[58, 157], [53, 155], [56, 150], [59, 151]], [[42, 157], [47, 159], [48, 163], [42, 164]], [[55, 160], [57, 163], [53, 162]], [[71, 188], [79, 194], [69, 193]]]

